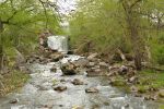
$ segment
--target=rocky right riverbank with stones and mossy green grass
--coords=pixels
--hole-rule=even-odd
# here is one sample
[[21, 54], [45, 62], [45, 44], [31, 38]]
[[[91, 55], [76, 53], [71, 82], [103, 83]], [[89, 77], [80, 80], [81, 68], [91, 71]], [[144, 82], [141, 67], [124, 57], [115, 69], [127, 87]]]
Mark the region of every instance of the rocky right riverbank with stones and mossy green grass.
[[98, 56], [98, 53], [87, 53], [84, 56], [91, 57], [94, 55], [96, 57], [93, 57], [93, 63], [102, 60], [101, 63], [107, 64], [108, 70], [105, 71], [105, 75], [110, 80], [110, 85], [131, 93], [136, 97], [143, 97], [145, 100], [160, 102], [161, 107], [163, 107], [164, 72], [162, 70], [157, 71], [156, 69], [143, 66], [142, 71], [137, 71], [132, 61], [109, 63], [107, 59]]

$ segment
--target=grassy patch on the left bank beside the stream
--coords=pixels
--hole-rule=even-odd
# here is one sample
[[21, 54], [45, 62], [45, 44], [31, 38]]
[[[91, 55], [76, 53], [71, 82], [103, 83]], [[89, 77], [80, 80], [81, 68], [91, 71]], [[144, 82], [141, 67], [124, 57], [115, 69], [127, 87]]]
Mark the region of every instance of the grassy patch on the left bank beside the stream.
[[12, 73], [5, 74], [1, 80], [3, 86], [0, 87], [0, 96], [4, 96], [15, 89], [22, 87], [30, 75], [20, 71], [13, 71]]

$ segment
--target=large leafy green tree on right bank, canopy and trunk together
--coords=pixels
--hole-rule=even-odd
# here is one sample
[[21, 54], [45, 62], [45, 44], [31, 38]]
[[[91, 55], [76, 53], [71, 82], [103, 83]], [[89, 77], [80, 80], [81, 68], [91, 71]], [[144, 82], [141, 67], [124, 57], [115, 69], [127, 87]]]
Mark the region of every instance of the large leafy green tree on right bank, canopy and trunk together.
[[[137, 70], [141, 70], [150, 36], [163, 29], [162, 0], [81, 0], [70, 19], [71, 36], [77, 41], [87, 36], [96, 50], [120, 49], [132, 52]], [[154, 33], [159, 33], [159, 35]], [[151, 44], [152, 45], [152, 44]], [[114, 49], [114, 50], [113, 50]]]

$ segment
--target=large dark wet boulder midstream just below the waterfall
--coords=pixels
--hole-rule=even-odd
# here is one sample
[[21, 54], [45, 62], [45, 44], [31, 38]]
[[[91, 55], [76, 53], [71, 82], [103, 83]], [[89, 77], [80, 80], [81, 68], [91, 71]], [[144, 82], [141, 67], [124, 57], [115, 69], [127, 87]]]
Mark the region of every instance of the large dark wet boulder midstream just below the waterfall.
[[61, 66], [63, 75], [74, 75], [77, 74], [77, 66], [72, 63], [67, 63]]

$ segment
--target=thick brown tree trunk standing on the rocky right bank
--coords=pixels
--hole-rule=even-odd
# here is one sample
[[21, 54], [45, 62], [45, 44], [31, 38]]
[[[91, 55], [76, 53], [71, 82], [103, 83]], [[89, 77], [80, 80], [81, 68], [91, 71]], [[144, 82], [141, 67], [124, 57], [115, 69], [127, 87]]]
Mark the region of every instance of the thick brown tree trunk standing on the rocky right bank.
[[128, 33], [131, 39], [133, 53], [134, 53], [134, 65], [137, 70], [141, 70], [142, 64], [142, 40], [139, 35], [138, 25], [139, 25], [139, 19], [138, 14], [133, 11], [134, 9], [131, 9], [131, 7], [128, 4], [128, 2], [122, 3], [125, 12], [126, 12], [126, 22], [128, 26]]

